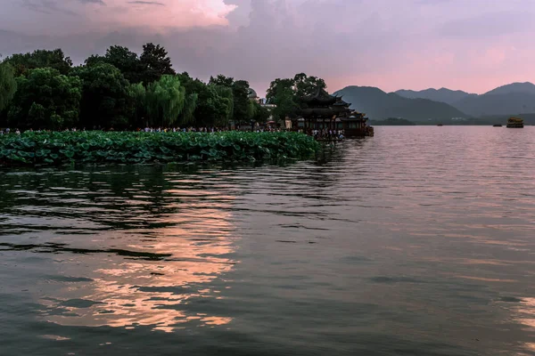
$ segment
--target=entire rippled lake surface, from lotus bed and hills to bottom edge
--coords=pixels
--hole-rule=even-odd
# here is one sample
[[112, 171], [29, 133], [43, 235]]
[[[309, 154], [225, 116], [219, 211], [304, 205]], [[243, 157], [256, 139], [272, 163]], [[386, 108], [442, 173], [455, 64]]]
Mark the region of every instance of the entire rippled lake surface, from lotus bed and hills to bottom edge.
[[0, 171], [0, 355], [534, 355], [535, 127]]

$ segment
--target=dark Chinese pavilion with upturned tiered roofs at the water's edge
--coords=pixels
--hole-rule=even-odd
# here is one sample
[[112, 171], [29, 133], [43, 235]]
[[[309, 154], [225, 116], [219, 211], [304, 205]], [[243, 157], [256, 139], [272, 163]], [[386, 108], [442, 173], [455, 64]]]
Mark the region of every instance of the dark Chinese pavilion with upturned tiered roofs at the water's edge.
[[294, 125], [305, 132], [312, 130], [344, 130], [346, 137], [373, 135], [373, 127], [367, 125], [366, 114], [350, 109], [350, 103], [342, 96], [329, 95], [325, 90], [302, 98], [303, 109]]

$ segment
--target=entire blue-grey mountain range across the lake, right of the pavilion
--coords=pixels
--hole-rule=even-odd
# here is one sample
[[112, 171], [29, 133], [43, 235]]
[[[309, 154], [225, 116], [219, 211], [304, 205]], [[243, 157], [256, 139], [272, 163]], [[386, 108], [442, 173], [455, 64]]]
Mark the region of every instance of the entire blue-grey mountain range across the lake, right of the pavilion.
[[371, 86], [348, 86], [335, 94], [343, 95], [352, 109], [373, 120], [402, 117], [416, 123], [466, 124], [535, 113], [535, 85], [531, 83], [503, 85], [481, 95], [447, 88], [385, 93]]

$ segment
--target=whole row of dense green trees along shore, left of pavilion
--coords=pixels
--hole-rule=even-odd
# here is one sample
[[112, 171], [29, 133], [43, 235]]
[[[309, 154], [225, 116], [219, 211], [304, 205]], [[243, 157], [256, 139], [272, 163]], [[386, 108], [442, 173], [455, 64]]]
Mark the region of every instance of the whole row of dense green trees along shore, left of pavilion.
[[[305, 74], [276, 79], [268, 101], [278, 106], [276, 117], [292, 116], [300, 97], [317, 88], [325, 90], [325, 82]], [[132, 129], [266, 122], [270, 112], [249, 92], [245, 80], [218, 75], [204, 83], [177, 74], [160, 44], [144, 44], [141, 54], [112, 45], [75, 68], [61, 49], [38, 50], [0, 63], [0, 125]]]

